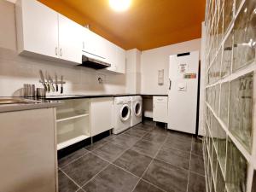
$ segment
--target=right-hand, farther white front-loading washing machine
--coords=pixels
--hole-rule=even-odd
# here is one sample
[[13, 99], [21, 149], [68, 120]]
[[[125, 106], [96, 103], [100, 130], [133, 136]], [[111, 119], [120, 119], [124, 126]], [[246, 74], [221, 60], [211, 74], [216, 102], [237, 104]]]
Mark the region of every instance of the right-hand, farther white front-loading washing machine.
[[142, 122], [143, 119], [143, 97], [131, 96], [131, 126]]

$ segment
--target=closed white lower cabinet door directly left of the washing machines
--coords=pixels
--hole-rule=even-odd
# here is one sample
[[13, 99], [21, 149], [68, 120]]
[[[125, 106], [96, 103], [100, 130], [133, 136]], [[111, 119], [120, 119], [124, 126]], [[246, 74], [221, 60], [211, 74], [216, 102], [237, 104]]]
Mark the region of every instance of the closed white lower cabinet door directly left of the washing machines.
[[111, 130], [113, 98], [96, 98], [90, 103], [90, 131], [91, 137], [104, 131]]

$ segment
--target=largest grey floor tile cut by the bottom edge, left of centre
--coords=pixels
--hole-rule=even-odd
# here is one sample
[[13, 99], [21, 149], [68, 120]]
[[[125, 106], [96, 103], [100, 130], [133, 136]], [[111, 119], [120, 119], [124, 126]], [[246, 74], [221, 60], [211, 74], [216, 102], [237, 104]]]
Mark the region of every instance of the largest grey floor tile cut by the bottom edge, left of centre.
[[83, 189], [87, 192], [131, 192], [138, 179], [117, 166], [109, 165]]

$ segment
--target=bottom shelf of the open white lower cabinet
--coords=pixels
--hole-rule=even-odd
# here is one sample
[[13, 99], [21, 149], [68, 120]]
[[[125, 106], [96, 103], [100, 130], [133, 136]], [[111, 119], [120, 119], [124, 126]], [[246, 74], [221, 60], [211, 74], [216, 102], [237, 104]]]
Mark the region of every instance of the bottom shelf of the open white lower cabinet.
[[70, 133], [58, 135], [57, 150], [61, 150], [62, 148], [67, 148], [68, 146], [73, 145], [74, 143], [79, 143], [87, 138], [90, 138], [90, 136], [87, 136], [87, 135], [71, 136]]

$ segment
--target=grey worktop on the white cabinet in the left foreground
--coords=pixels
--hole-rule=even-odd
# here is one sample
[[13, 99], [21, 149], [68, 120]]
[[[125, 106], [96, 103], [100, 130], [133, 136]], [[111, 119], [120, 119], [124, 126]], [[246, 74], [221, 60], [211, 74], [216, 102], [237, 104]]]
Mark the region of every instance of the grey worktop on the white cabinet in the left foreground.
[[[12, 98], [20, 98], [20, 97], [12, 97]], [[28, 103], [0, 104], [0, 113], [31, 110], [31, 109], [38, 109], [38, 108], [55, 108], [60, 106], [62, 103], [63, 102], [49, 101], [49, 100], [36, 100], [35, 102], [28, 102]]]

